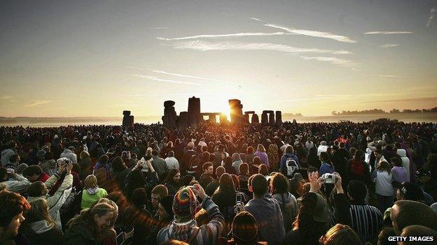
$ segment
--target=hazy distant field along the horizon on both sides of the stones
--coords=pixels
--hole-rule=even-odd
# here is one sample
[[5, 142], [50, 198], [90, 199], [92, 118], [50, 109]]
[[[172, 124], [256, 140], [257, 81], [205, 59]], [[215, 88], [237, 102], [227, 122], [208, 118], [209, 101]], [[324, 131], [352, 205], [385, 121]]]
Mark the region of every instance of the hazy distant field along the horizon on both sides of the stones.
[[[380, 118], [397, 119], [404, 122], [433, 122], [437, 123], [437, 113], [399, 113], [399, 114], [359, 114], [347, 116], [323, 116], [323, 117], [283, 117], [283, 121], [303, 122], [338, 122], [338, 121], [372, 121]], [[30, 126], [30, 127], [57, 127], [67, 125], [105, 124], [120, 125], [123, 118], [120, 117], [52, 117], [52, 118], [0, 118], [1, 126]], [[135, 122], [142, 124], [154, 124], [161, 121], [158, 116], [136, 117]]]

